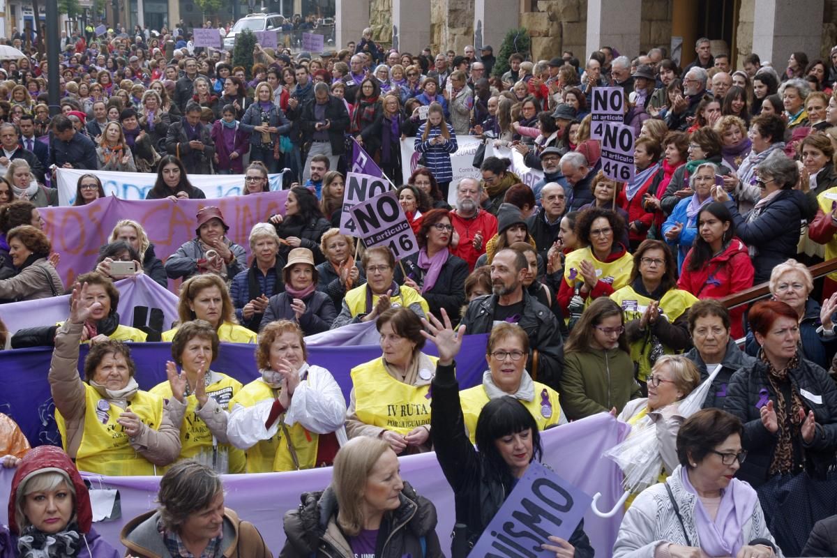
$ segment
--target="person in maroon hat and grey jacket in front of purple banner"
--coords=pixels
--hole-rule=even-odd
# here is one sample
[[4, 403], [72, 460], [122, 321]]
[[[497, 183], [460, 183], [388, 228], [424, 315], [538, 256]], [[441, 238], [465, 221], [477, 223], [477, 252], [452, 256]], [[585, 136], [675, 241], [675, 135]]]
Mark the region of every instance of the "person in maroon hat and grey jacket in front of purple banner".
[[224, 279], [247, 269], [247, 253], [227, 238], [229, 225], [218, 207], [202, 207], [196, 216], [197, 238], [183, 243], [166, 260], [166, 274], [171, 279], [191, 279], [199, 274], [218, 274]]

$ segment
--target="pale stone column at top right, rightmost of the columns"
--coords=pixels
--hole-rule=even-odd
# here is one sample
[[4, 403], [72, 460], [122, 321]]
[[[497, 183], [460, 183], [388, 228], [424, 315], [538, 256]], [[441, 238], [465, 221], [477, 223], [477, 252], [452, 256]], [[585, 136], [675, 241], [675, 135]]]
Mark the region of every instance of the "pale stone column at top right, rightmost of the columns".
[[791, 53], [819, 53], [823, 4], [821, 0], [759, 0], [752, 24], [752, 52], [780, 74]]

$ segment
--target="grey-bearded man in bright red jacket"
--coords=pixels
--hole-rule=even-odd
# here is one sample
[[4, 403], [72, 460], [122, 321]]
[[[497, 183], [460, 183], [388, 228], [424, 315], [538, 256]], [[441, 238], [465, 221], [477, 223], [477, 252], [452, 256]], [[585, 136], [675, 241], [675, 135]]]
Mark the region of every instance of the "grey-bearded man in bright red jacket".
[[456, 187], [456, 209], [450, 212], [454, 240], [450, 253], [474, 270], [476, 260], [485, 253], [485, 243], [497, 233], [497, 218], [480, 208], [483, 187], [474, 178], [463, 178]]

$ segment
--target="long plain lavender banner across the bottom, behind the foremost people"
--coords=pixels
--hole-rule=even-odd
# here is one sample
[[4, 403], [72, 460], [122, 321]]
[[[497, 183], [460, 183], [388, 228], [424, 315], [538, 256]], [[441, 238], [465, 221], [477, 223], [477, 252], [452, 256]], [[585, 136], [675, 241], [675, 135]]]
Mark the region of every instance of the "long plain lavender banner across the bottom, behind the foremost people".
[[[607, 413], [600, 413], [581, 421], [555, 427], [542, 434], [547, 464], [567, 482], [587, 494], [602, 493], [601, 507], [609, 508], [622, 494], [619, 467], [602, 453], [619, 443], [628, 427]], [[444, 480], [434, 453], [400, 458], [401, 476], [430, 499], [439, 514], [436, 532], [444, 555], [450, 552], [450, 533], [454, 525], [454, 495]], [[0, 522], [8, 523], [8, 491], [14, 471], [0, 469]], [[119, 533], [122, 525], [136, 515], [154, 509], [159, 478], [157, 477], [101, 477], [85, 474], [91, 488], [119, 491], [121, 516], [112, 521], [95, 523], [96, 531], [121, 549]], [[286, 511], [297, 509], [300, 494], [322, 490], [331, 482], [331, 468], [316, 468], [290, 473], [227, 475], [223, 478], [226, 498], [224, 504], [235, 509], [239, 517], [254, 523], [270, 547], [279, 555], [285, 544], [282, 517]], [[584, 516], [587, 532], [597, 556], [612, 555], [614, 541], [622, 520], [622, 512], [613, 518], [599, 518], [588, 509]]]

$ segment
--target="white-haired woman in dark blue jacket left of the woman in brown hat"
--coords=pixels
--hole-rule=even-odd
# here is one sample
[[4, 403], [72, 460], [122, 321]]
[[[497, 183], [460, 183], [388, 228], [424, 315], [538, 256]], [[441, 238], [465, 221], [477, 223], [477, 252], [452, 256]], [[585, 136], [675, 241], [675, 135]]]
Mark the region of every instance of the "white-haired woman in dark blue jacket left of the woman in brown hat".
[[279, 235], [270, 223], [256, 223], [250, 230], [249, 243], [253, 264], [235, 275], [229, 295], [239, 323], [258, 332], [270, 297], [285, 292], [285, 259], [279, 253]]

